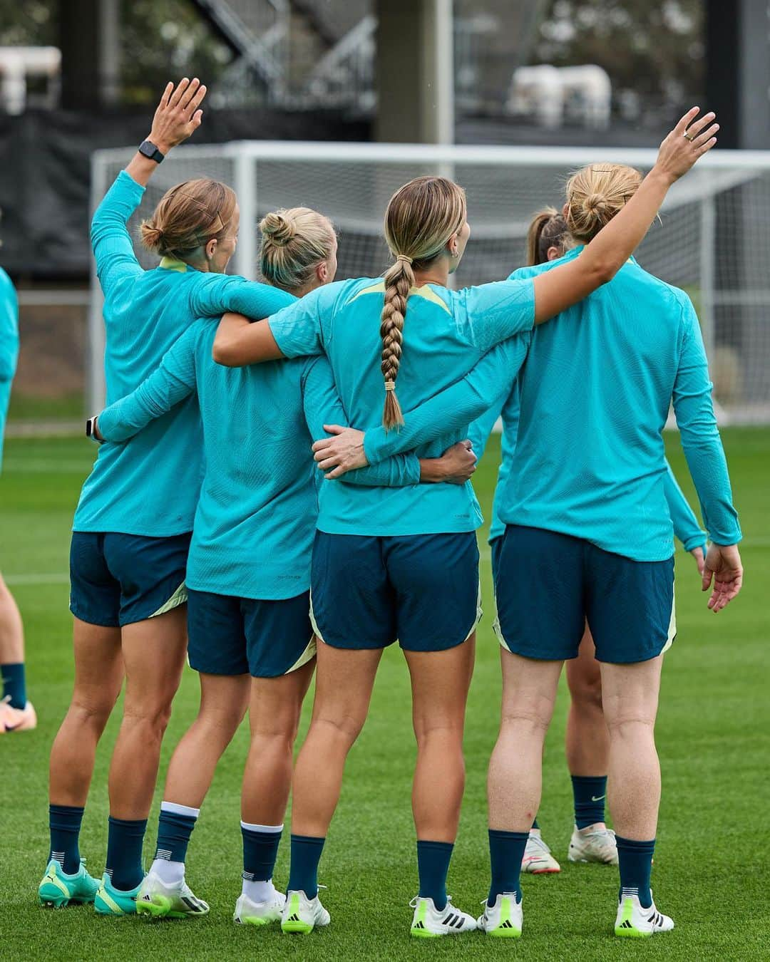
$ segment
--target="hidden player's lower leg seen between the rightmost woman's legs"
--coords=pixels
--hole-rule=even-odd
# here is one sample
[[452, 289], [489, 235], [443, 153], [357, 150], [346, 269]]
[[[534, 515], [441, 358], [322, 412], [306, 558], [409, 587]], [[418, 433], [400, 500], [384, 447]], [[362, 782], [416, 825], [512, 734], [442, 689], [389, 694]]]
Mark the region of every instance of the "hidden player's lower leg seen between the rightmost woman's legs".
[[615, 838], [604, 823], [609, 765], [609, 733], [602, 710], [602, 674], [596, 646], [586, 625], [578, 657], [567, 662], [570, 709], [565, 746], [575, 800], [571, 862], [617, 865]]

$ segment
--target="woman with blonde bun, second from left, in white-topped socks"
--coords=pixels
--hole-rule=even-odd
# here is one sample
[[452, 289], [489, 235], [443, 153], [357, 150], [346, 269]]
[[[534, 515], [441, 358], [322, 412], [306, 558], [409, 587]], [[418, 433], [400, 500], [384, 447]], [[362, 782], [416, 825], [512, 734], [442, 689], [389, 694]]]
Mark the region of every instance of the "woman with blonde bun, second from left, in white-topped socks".
[[[328, 218], [294, 208], [267, 215], [260, 229], [261, 270], [271, 285], [301, 297], [334, 279], [337, 238]], [[107, 442], [125, 442], [191, 394], [203, 421], [205, 473], [186, 578], [200, 710], [171, 758], [155, 860], [137, 909], [171, 918], [208, 912], [185, 880], [187, 847], [218, 759], [248, 708], [244, 882], [235, 921], [262, 925], [280, 918], [285, 900], [272, 871], [315, 665], [309, 589], [318, 498], [310, 445], [324, 419], [345, 412], [325, 358], [221, 367], [212, 358], [215, 334], [211, 321], [193, 323], [135, 392], [99, 415], [97, 430]], [[414, 485], [422, 473], [463, 483], [474, 465], [458, 444], [436, 461], [399, 455], [346, 480]]]

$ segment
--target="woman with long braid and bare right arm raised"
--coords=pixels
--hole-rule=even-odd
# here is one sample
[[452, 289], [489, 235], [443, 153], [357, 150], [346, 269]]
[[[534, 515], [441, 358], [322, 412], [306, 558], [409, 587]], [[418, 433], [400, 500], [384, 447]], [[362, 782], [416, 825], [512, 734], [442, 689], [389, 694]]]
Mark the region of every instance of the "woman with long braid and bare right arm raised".
[[[465, 196], [445, 178], [418, 178], [388, 205], [385, 235], [395, 263], [384, 281], [329, 285], [267, 323], [225, 318], [215, 358], [238, 366], [325, 353], [353, 423], [373, 428], [382, 418], [392, 428], [406, 420], [408, 434], [397, 382], [405, 406], [417, 405], [461, 378], [500, 342], [509, 368], [518, 369], [533, 324], [596, 290], [624, 265], [666, 191], [714, 143], [713, 115], [696, 120], [696, 114], [697, 109], [685, 114], [664, 140], [653, 171], [626, 210], [579, 258], [550, 275], [450, 291], [449, 273], [470, 235]], [[384, 415], [377, 402], [383, 387]], [[440, 438], [438, 450], [466, 433]], [[418, 453], [431, 448], [419, 447]], [[318, 899], [321, 850], [382, 650], [397, 638], [412, 677], [418, 742], [413, 810], [420, 889], [411, 931], [422, 937], [475, 928], [475, 920], [448, 904], [446, 879], [464, 783], [479, 522], [470, 484], [465, 490], [331, 484], [321, 489], [311, 580], [317, 634], [325, 644], [319, 646], [313, 720], [295, 770], [284, 931], [308, 932], [329, 921]], [[345, 686], [340, 677], [347, 678]]]

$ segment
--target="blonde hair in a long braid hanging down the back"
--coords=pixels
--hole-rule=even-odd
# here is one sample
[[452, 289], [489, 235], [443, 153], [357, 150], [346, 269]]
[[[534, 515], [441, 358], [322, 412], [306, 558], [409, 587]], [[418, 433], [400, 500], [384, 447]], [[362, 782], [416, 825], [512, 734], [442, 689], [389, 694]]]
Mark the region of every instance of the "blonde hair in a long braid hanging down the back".
[[424, 268], [447, 246], [466, 221], [465, 190], [446, 177], [417, 177], [398, 188], [385, 211], [385, 240], [396, 263], [385, 274], [385, 303], [379, 328], [385, 380], [386, 429], [403, 424], [396, 378], [403, 347], [406, 300], [414, 287], [414, 267]]

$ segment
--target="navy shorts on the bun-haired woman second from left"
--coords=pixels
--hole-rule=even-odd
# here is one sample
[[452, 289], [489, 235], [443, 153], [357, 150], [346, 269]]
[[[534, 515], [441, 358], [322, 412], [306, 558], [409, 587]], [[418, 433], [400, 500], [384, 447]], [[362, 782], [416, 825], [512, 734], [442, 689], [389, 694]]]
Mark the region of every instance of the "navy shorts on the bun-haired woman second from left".
[[188, 591], [190, 667], [205, 674], [276, 678], [316, 654], [310, 592], [269, 601]]

